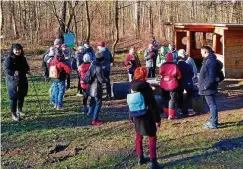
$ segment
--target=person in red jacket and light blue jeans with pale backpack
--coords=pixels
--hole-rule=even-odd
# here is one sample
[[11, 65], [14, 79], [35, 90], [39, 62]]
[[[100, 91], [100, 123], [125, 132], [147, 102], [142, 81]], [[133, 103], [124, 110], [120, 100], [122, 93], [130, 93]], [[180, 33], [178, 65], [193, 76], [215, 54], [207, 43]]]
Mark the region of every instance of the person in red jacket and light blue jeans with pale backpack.
[[54, 59], [50, 61], [49, 69], [51, 69], [51, 66], [55, 66], [58, 72], [58, 76], [53, 80], [53, 89], [51, 94], [51, 103], [55, 105], [54, 108], [57, 110], [61, 110], [63, 107], [65, 80], [67, 76], [72, 72], [71, 68], [66, 65], [64, 61], [65, 59], [62, 49], [56, 49]]

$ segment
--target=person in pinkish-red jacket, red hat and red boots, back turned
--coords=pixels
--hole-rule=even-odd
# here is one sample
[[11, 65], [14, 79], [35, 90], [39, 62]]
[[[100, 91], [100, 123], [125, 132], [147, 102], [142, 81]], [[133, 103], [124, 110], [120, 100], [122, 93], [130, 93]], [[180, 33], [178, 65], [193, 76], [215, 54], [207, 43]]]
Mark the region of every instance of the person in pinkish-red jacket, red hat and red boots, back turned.
[[168, 119], [175, 119], [176, 90], [181, 73], [178, 66], [173, 63], [172, 53], [166, 55], [166, 62], [160, 66], [159, 74], [162, 96], [165, 100], [164, 113]]

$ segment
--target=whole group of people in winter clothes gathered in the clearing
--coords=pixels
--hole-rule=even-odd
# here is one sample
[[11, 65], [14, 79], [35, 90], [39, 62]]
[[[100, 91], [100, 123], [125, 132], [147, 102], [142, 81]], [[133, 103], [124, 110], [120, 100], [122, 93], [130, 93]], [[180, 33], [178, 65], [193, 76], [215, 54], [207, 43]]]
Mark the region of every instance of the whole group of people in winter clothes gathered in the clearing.
[[[54, 41], [54, 46], [50, 47], [43, 55], [43, 69], [46, 79], [52, 79], [50, 87], [50, 101], [57, 110], [63, 107], [63, 97], [65, 90], [70, 87], [66, 83], [70, 82], [72, 69], [78, 72], [78, 92], [83, 94], [83, 109], [87, 115], [92, 115], [92, 125], [99, 126], [102, 121], [98, 118], [102, 106], [103, 88], [106, 83], [107, 99], [111, 97], [110, 71], [113, 62], [112, 55], [104, 42], [97, 43], [98, 51], [89, 45], [89, 42], [77, 47], [74, 58], [71, 51], [62, 43], [61, 39]], [[164, 98], [163, 111], [168, 119], [175, 119], [176, 114], [193, 114], [192, 98], [193, 86], [199, 84], [199, 94], [205, 95], [210, 108], [210, 120], [205, 124], [205, 128], [215, 129], [218, 125], [218, 111], [215, 101], [217, 93], [217, 60], [213, 50], [209, 46], [201, 48], [201, 54], [204, 58], [200, 70], [199, 79], [197, 77], [197, 68], [193, 59], [186, 56], [184, 49], [175, 50], [173, 44], [168, 48], [159, 45], [156, 46], [152, 41], [148, 49], [144, 52], [146, 66], [141, 66], [139, 58], [131, 48], [125, 58], [125, 65], [128, 71], [128, 78], [131, 81], [131, 89], [134, 92], [141, 92], [147, 106], [144, 115], [130, 118], [134, 123], [136, 131], [136, 153], [138, 155], [138, 164], [142, 165], [151, 162], [151, 168], [161, 168], [156, 157], [156, 132], [161, 124], [161, 110], [158, 110], [152, 88], [147, 78], [155, 77], [156, 66], [159, 67], [160, 87], [162, 97]], [[72, 59], [75, 59], [73, 62]], [[75, 64], [74, 64], [75, 63]], [[73, 65], [74, 64], [74, 65]], [[6, 84], [10, 99], [10, 108], [12, 119], [20, 120], [23, 115], [22, 107], [24, 97], [28, 91], [27, 74], [30, 74], [30, 68], [24, 57], [24, 51], [21, 44], [13, 44], [10, 49], [10, 55], [4, 63], [4, 72], [6, 74]], [[68, 80], [69, 78], [69, 80]], [[87, 80], [88, 79], [88, 80]], [[69, 81], [69, 82], [68, 82]], [[187, 109], [184, 109], [183, 93], [187, 93]], [[87, 106], [90, 97], [90, 105]], [[176, 111], [176, 104], [178, 110]], [[143, 136], [149, 138], [150, 158], [144, 157], [142, 140]]]

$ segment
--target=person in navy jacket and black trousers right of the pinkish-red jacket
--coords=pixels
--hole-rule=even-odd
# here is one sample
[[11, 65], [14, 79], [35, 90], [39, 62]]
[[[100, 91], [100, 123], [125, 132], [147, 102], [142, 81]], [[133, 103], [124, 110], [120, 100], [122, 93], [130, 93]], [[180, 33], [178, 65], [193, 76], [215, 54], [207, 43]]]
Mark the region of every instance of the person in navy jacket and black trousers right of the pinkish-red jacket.
[[[179, 87], [178, 87], [178, 115], [179, 116], [188, 116], [193, 115], [192, 109], [192, 98], [193, 98], [193, 71], [192, 67], [187, 64], [184, 60], [184, 57], [178, 53], [177, 62], [178, 68], [181, 72], [181, 78], [179, 79]], [[184, 101], [183, 93], [186, 90], [186, 101]], [[187, 109], [185, 109], [187, 108]]]

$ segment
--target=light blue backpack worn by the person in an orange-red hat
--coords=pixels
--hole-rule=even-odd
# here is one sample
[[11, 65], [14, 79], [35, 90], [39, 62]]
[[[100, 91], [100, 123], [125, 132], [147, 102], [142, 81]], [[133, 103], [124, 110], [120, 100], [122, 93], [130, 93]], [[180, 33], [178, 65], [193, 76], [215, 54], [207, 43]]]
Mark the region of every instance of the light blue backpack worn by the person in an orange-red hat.
[[147, 107], [144, 102], [144, 97], [140, 92], [128, 94], [127, 104], [130, 110], [131, 117], [139, 117], [145, 115], [147, 112]]

